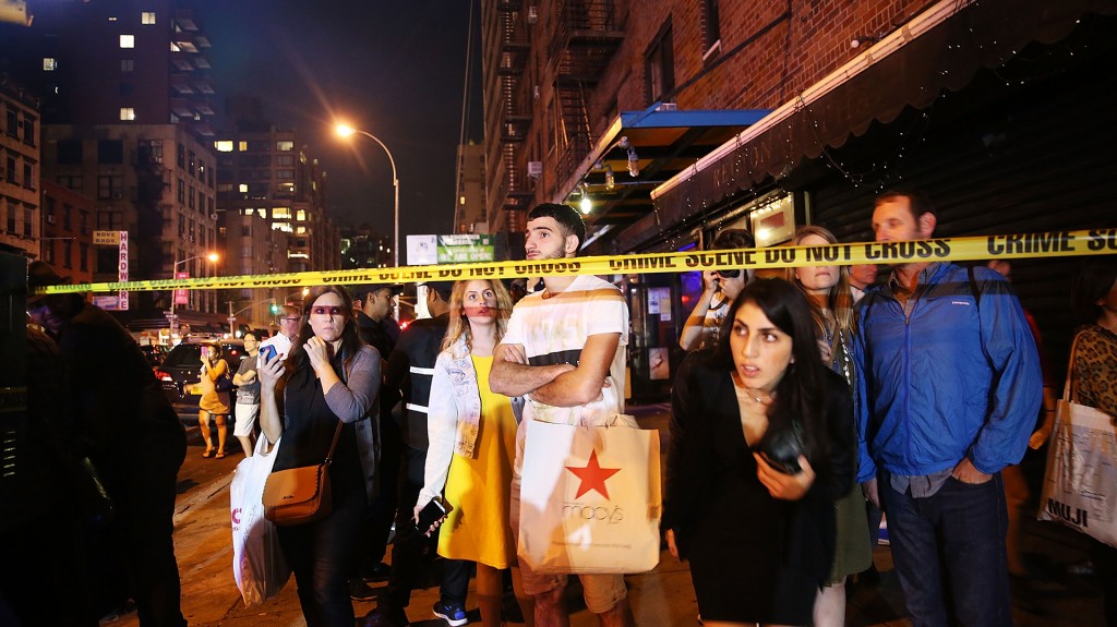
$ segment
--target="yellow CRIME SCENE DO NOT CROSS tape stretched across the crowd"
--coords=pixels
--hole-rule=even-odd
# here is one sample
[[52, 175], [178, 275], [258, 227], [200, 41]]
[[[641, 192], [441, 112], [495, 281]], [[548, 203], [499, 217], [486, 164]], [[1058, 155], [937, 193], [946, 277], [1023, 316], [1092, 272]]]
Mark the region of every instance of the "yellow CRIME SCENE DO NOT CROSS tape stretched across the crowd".
[[288, 274], [209, 277], [51, 286], [37, 293], [151, 291], [166, 289], [290, 288], [327, 283], [410, 283], [459, 279], [512, 279], [576, 274], [643, 274], [731, 268], [800, 268], [853, 263], [977, 261], [1117, 253], [1117, 229], [1052, 231], [1020, 235], [936, 238], [908, 242], [858, 242], [723, 251], [658, 252], [544, 261], [496, 261], [404, 268], [362, 268]]

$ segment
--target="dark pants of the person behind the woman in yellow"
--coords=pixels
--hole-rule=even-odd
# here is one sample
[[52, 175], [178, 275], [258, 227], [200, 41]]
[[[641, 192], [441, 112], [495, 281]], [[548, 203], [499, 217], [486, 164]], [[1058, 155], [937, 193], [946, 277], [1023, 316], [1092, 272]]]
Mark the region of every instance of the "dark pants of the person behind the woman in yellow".
[[[426, 562], [423, 554], [433, 551], [436, 542], [416, 531], [412, 518], [419, 491], [423, 485], [427, 452], [405, 446], [400, 459], [399, 501], [395, 515], [395, 542], [392, 544], [392, 576], [380, 596], [382, 611], [403, 611], [411, 602], [411, 590], [417, 586]], [[469, 588], [470, 562], [445, 560], [441, 599], [445, 604], [466, 602]]]

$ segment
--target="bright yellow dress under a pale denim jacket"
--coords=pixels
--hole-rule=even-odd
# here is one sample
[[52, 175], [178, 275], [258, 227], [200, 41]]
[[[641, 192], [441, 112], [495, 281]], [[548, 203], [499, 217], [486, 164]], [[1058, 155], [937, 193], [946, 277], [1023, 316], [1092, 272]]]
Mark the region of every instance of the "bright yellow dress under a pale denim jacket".
[[438, 554], [508, 568], [516, 544], [508, 522], [512, 462], [516, 454], [516, 416], [512, 403], [488, 386], [493, 357], [470, 356], [481, 395], [476, 459], [454, 454], [446, 500], [454, 505], [438, 537]]

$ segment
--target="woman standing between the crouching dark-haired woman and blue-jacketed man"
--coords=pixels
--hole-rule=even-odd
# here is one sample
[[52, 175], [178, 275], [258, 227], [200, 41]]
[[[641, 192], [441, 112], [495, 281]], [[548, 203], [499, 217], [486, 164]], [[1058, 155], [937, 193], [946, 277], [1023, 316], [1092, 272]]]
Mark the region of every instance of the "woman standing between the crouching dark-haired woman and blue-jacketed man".
[[[822, 226], [809, 225], [795, 231], [793, 245], [829, 245], [838, 238]], [[853, 385], [853, 363], [849, 356], [853, 339], [853, 292], [846, 266], [815, 266], [791, 268], [787, 280], [803, 290], [811, 303], [811, 318], [819, 343], [822, 363]], [[855, 433], [856, 435], [856, 433]], [[856, 452], [855, 452], [855, 460]], [[857, 466], [853, 467], [855, 476]], [[861, 486], [853, 485], [834, 503], [837, 546], [834, 563], [827, 586], [814, 602], [814, 627], [841, 627], [846, 624], [846, 577], [861, 572], [872, 565], [869, 543], [869, 520], [865, 511]]]

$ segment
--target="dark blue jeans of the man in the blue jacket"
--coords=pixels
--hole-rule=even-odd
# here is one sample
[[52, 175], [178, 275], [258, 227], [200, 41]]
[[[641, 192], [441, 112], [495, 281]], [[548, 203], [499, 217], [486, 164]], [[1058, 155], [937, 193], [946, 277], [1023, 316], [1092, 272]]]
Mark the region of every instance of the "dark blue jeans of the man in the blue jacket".
[[973, 485], [949, 478], [915, 499], [878, 478], [900, 587], [915, 627], [1012, 626], [1001, 473]]

